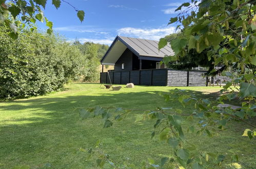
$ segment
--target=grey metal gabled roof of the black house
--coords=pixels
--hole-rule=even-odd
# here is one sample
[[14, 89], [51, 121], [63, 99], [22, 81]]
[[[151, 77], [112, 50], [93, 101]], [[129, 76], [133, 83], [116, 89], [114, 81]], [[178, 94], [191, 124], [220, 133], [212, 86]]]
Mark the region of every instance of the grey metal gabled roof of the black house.
[[[116, 36], [113, 43], [110, 45], [109, 49], [107, 50], [106, 54], [101, 59], [102, 64], [104, 64], [104, 60], [106, 57], [109, 58], [109, 57], [121, 56], [121, 55], [114, 56], [112, 53], [115, 53], [115, 52], [111, 52], [112, 49], [116, 50], [115, 48], [113, 48], [113, 46], [115, 46], [117, 41], [121, 41], [121, 43], [125, 45], [126, 48], [131, 50], [136, 56], [143, 59], [148, 58], [149, 60], [151, 60], [152, 58], [155, 58], [157, 60], [161, 60], [165, 56], [170, 56], [174, 54], [170, 45], [167, 45], [161, 50], [159, 50], [158, 49], [159, 41], [157, 40], [147, 40], [147, 39], [140, 39], [140, 38], [133, 38], [133, 37]], [[110, 61], [107, 61], [107, 63], [110, 64]]]

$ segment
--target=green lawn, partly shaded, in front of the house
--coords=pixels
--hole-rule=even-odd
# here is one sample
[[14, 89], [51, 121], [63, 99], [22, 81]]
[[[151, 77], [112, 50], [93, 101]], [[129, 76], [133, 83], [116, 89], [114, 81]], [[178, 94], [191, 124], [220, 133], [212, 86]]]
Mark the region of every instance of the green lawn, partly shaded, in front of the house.
[[[220, 87], [179, 88], [212, 99], [220, 90]], [[77, 83], [68, 85], [66, 91], [46, 96], [0, 102], [0, 168], [24, 164], [42, 168], [46, 163], [53, 168], [95, 168], [95, 159], [86, 160], [88, 154], [80, 148], [88, 149], [99, 139], [104, 151], [117, 163], [128, 157], [138, 165], [148, 158], [159, 161], [163, 156], [171, 156], [167, 143], [150, 138], [154, 120], [134, 123], [134, 113], [124, 121], [115, 122], [111, 128], [103, 129], [104, 122], [100, 118], [80, 120], [77, 108], [113, 105], [155, 109], [161, 106], [190, 113], [193, 108], [184, 109], [178, 102], [164, 102], [158, 94], [172, 89], [174, 87], [136, 86], [110, 91], [100, 89], [99, 84]], [[193, 122], [185, 119], [184, 125], [195, 125]], [[254, 168], [255, 139], [241, 136], [247, 128], [244, 123], [233, 121], [228, 130], [217, 132], [212, 138], [188, 135], [188, 140], [199, 145], [196, 152], [211, 151], [227, 156], [234, 152], [239, 155], [242, 168]], [[229, 165], [222, 167], [231, 168]]]

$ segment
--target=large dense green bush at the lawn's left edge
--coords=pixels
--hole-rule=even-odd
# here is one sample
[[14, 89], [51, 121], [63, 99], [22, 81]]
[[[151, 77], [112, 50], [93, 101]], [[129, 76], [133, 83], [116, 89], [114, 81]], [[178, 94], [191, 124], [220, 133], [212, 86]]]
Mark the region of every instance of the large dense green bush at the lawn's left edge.
[[85, 71], [84, 55], [62, 38], [24, 30], [13, 40], [0, 27], [1, 99], [56, 91]]

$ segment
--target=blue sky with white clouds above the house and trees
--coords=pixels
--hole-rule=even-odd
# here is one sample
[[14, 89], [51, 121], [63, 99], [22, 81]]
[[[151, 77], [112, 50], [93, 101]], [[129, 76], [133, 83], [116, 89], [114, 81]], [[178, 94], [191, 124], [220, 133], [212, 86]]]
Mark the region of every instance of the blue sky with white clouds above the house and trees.
[[[167, 26], [174, 10], [182, 1], [165, 0], [66, 0], [79, 10], [85, 11], [81, 24], [75, 10], [62, 2], [55, 9], [48, 1], [45, 16], [53, 22], [54, 32], [69, 40], [77, 38], [81, 43], [92, 41], [110, 45], [116, 35], [159, 40], [175, 31], [175, 25]], [[46, 27], [38, 24], [41, 29]]]

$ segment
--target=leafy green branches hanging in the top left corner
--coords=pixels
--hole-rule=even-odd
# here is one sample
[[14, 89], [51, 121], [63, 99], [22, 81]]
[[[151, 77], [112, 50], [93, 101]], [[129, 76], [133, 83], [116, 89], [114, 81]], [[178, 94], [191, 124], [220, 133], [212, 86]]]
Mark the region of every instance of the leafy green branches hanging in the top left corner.
[[[0, 0], [0, 24], [4, 23], [11, 32], [9, 36], [16, 39], [18, 36], [18, 29], [17, 27], [25, 24], [34, 24], [36, 20], [40, 22], [45, 22], [46, 26], [49, 28], [47, 29], [47, 33], [52, 33], [52, 26], [53, 23], [50, 22], [45, 16], [42, 11], [42, 8], [45, 9], [46, 3], [49, 2], [48, 0]], [[64, 0], [52, 0], [52, 5], [58, 9], [61, 6], [61, 3], [69, 4], [74, 10], [77, 12], [77, 17], [83, 22], [85, 12], [82, 10], [78, 10], [70, 3]], [[17, 16], [22, 15], [21, 19], [22, 22], [17, 19]], [[34, 26], [31, 28], [34, 30]]]

